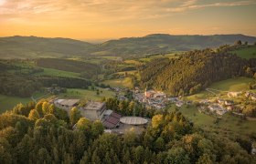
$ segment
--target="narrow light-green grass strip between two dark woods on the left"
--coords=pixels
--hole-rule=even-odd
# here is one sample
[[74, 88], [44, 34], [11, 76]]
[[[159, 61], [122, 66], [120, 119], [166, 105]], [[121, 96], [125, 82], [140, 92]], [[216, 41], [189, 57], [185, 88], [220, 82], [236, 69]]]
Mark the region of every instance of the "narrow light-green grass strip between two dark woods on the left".
[[62, 71], [52, 68], [44, 68], [44, 72], [34, 74], [36, 76], [54, 76], [54, 77], [79, 77], [79, 73]]

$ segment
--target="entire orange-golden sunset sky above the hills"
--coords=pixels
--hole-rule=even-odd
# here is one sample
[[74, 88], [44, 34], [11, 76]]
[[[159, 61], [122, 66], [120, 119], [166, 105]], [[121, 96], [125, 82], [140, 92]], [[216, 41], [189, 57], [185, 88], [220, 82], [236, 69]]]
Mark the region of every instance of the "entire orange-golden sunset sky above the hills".
[[0, 0], [0, 36], [256, 36], [256, 0]]

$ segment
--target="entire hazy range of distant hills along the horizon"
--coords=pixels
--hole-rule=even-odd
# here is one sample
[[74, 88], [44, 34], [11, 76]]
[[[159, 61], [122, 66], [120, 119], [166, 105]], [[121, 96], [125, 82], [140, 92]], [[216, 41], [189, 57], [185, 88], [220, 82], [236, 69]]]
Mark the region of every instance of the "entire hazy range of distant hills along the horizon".
[[256, 42], [254, 36], [172, 36], [154, 34], [143, 37], [124, 37], [95, 45], [69, 38], [37, 36], [0, 37], [1, 58], [70, 57], [70, 56], [145, 56], [174, 51], [187, 51], [233, 45], [235, 41]]

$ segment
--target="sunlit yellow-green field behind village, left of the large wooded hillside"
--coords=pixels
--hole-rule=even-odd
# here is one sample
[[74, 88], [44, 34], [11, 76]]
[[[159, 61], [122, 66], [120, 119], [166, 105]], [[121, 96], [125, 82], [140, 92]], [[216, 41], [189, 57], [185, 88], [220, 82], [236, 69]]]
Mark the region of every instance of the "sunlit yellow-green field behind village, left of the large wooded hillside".
[[106, 80], [103, 83], [110, 85], [111, 87], [133, 87], [132, 79], [130, 77]]

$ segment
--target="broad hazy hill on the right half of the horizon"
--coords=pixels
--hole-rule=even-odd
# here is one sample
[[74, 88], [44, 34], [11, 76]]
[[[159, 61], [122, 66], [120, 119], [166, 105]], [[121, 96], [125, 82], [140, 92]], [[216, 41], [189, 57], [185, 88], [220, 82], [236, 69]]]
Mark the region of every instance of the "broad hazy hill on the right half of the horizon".
[[226, 44], [233, 45], [236, 40], [254, 43], [256, 37], [243, 35], [171, 36], [155, 34], [144, 37], [127, 37], [118, 40], [110, 40], [101, 44], [101, 51], [94, 54], [105, 56], [149, 55], [204, 49]]

